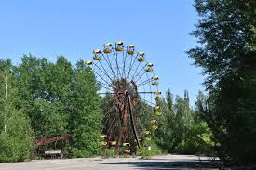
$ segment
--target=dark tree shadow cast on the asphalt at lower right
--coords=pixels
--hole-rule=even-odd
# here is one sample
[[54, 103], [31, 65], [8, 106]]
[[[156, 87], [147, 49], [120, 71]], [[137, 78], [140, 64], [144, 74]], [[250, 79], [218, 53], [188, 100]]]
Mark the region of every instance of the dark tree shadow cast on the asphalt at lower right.
[[103, 163], [103, 164], [131, 164], [137, 166], [138, 169], [144, 170], [181, 170], [181, 169], [218, 169], [220, 163], [212, 163], [210, 161], [173, 161], [173, 162], [164, 162], [157, 160], [146, 160], [141, 162], [119, 162], [119, 163]]

